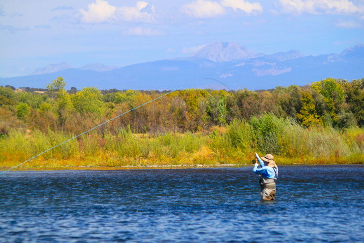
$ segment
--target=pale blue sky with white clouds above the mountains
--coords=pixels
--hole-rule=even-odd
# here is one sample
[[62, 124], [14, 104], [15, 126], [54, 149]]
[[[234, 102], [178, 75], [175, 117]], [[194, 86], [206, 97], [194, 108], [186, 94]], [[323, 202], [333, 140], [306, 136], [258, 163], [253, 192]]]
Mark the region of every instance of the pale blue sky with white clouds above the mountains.
[[340, 53], [364, 43], [364, 0], [0, 0], [0, 77], [186, 57], [213, 41]]

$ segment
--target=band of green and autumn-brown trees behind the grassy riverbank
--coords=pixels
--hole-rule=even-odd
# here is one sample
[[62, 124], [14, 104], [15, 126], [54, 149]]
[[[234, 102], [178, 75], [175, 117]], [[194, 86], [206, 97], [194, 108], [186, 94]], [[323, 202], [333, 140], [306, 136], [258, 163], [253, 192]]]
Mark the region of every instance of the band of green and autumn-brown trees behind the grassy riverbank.
[[[58, 77], [41, 92], [0, 86], [0, 136], [12, 128], [79, 134], [167, 91], [65, 89]], [[327, 78], [310, 85], [278, 86], [269, 91], [186, 89], [113, 120], [98, 131], [130, 126], [134, 133], [208, 131], [234, 120], [273, 114], [304, 127], [364, 126], [364, 78]]]

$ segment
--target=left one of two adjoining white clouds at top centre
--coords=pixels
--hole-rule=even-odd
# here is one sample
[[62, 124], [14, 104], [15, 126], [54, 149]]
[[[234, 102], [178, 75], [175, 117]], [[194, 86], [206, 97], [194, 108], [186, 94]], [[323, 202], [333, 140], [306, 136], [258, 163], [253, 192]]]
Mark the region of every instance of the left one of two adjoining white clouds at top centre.
[[225, 13], [220, 3], [207, 0], [196, 0], [182, 6], [182, 12], [191, 17], [205, 19], [213, 18]]

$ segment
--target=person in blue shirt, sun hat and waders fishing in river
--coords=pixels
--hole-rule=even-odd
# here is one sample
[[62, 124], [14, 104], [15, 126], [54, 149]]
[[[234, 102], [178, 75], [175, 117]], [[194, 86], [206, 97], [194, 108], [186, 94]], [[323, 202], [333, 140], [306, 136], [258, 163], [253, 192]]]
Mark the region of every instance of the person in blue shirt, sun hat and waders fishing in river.
[[260, 175], [260, 197], [262, 200], [274, 200], [275, 197], [275, 180], [278, 176], [278, 167], [273, 160], [272, 154], [266, 154], [259, 158], [255, 152], [254, 156], [259, 164], [255, 161], [253, 172]]

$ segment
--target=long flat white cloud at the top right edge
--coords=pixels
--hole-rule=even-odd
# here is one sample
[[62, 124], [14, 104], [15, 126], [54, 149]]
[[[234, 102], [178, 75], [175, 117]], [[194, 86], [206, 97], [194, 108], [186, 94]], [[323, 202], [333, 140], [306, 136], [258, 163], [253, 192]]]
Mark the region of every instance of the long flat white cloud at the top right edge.
[[353, 14], [363, 12], [350, 0], [279, 0], [283, 12], [293, 14]]

